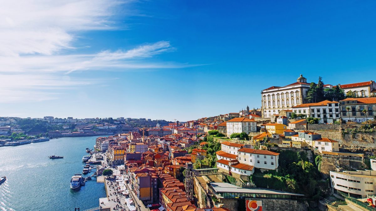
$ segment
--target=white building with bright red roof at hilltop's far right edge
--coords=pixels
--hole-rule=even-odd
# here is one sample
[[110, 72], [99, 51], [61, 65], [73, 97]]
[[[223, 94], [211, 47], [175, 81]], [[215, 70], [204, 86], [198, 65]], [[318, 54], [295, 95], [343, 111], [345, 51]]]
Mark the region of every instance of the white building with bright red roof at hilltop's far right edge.
[[352, 91], [357, 97], [370, 97], [372, 93], [376, 93], [376, 83], [374, 81], [338, 85], [345, 93]]

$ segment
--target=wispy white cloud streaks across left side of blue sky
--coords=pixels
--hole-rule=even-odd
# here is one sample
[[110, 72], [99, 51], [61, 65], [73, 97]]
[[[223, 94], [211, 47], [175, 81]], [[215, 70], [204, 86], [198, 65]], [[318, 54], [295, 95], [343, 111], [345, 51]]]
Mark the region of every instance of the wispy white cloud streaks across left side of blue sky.
[[[19, 0], [0, 7], [0, 102], [55, 99], [62, 89], [100, 83], [74, 78], [74, 71], [126, 71], [182, 68], [173, 62], [150, 62], [157, 54], [173, 51], [168, 41], [124, 50], [74, 53], [81, 32], [118, 30], [118, 15], [138, 15], [133, 1]], [[121, 6], [121, 14], [118, 8]], [[120, 46], [121, 47], [121, 46]], [[67, 51], [68, 50], [68, 51]], [[68, 53], [67, 53], [68, 52]], [[73, 53], [72, 53], [73, 52]]]

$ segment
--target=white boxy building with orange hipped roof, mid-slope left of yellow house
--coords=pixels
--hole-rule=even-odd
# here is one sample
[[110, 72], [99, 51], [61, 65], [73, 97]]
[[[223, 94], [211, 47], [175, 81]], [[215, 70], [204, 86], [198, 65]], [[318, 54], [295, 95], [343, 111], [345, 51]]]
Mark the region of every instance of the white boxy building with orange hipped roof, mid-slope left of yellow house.
[[233, 133], [251, 133], [257, 131], [256, 121], [245, 117], [233, 118], [226, 122], [227, 137]]

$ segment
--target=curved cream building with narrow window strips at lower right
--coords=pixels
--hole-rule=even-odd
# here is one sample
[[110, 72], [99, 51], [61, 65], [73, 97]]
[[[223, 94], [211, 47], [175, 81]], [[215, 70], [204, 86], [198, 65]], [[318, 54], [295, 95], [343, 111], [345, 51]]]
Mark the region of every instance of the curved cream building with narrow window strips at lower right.
[[367, 194], [376, 194], [376, 171], [374, 170], [330, 172], [330, 179], [332, 188], [345, 193], [362, 197]]

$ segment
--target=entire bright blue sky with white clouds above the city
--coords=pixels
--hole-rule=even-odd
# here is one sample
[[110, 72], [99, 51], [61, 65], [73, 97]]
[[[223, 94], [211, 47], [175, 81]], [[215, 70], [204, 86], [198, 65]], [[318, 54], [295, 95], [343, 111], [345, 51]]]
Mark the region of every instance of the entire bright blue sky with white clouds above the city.
[[0, 116], [188, 121], [261, 90], [376, 80], [375, 1], [17, 0], [0, 7]]

